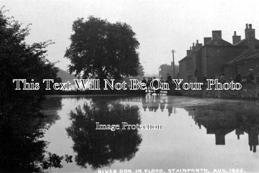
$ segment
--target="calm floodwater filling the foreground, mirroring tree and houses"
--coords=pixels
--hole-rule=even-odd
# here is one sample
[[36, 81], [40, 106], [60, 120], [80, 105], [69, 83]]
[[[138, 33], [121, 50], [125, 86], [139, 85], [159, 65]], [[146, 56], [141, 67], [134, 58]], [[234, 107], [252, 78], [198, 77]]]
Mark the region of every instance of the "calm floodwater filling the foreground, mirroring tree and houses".
[[[45, 149], [70, 156], [51, 172], [136, 169], [242, 169], [259, 172], [259, 102], [181, 96], [56, 96], [45, 113]], [[162, 130], [96, 130], [100, 124]], [[259, 149], [258, 149], [259, 150]], [[223, 170], [224, 171], [224, 170]], [[223, 172], [220, 171], [220, 172]]]

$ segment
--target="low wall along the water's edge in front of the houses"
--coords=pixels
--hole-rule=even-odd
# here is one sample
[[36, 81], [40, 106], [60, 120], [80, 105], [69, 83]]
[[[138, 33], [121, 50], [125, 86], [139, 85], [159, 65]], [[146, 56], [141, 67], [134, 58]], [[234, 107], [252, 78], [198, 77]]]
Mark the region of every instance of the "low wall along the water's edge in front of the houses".
[[202, 90], [175, 90], [176, 85], [170, 83], [168, 95], [171, 96], [197, 96], [197, 97], [214, 97], [214, 98], [234, 98], [234, 99], [259, 99], [259, 83], [243, 83], [240, 90], [207, 90], [207, 84], [202, 86]]

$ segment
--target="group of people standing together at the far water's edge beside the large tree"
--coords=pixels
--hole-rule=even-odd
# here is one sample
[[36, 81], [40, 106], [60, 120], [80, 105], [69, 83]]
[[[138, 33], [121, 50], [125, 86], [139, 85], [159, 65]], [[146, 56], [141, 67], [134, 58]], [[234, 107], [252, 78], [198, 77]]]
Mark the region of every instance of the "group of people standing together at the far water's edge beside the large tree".
[[[150, 84], [151, 84], [152, 80], [155, 80], [155, 77], [153, 77], [153, 78], [152, 78], [152, 77], [148, 77], [148, 80], [146, 80], [146, 78], [143, 77], [141, 83], [145, 83], [145, 84], [146, 84], [147, 92], [150, 91], [150, 94], [151, 94], [151, 95], [152, 95], [153, 93], [156, 93], [156, 95], [160, 95], [161, 89], [154, 90], [154, 89], [152, 89], [152, 88], [150, 87]], [[161, 83], [164, 83], [164, 82], [170, 83], [170, 82], [172, 82], [173, 80], [172, 80], [172, 77], [170, 76], [170, 74], [168, 73], [168, 74], [167, 74], [167, 80], [166, 80], [166, 81], [163, 80], [163, 77], [160, 77], [159, 81], [160, 81]], [[154, 87], [154, 88], [157, 88], [158, 85], [159, 85], [158, 81], [155, 80], [155, 81], [153, 82], [153, 87]], [[145, 91], [144, 91], [144, 92], [145, 92]]]

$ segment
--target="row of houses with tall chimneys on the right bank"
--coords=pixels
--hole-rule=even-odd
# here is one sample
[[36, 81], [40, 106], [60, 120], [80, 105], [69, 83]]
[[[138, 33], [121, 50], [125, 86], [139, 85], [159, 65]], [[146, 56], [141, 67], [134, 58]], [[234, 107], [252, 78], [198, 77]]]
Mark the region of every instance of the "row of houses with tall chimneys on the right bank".
[[212, 38], [204, 38], [204, 45], [198, 42], [187, 50], [187, 56], [179, 61], [179, 78], [184, 82], [202, 82], [203, 75], [207, 78], [235, 77], [238, 71], [245, 76], [249, 69], [259, 73], [259, 40], [255, 38], [252, 24], [246, 24], [245, 38], [233, 35], [233, 43], [222, 39], [222, 31], [212, 31]]

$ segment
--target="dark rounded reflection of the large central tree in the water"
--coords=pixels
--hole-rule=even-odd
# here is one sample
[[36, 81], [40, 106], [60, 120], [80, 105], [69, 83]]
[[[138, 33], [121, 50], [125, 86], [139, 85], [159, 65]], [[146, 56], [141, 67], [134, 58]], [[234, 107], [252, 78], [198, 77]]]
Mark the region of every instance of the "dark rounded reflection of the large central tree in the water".
[[72, 124], [67, 128], [74, 141], [73, 150], [76, 164], [95, 170], [110, 166], [115, 160], [121, 162], [132, 159], [142, 141], [138, 130], [96, 130], [100, 124], [140, 124], [138, 106], [123, 105], [118, 101], [92, 100], [90, 104], [79, 106], [70, 112]]

